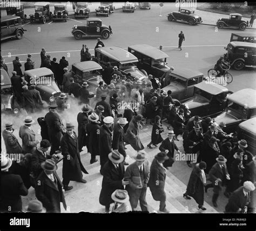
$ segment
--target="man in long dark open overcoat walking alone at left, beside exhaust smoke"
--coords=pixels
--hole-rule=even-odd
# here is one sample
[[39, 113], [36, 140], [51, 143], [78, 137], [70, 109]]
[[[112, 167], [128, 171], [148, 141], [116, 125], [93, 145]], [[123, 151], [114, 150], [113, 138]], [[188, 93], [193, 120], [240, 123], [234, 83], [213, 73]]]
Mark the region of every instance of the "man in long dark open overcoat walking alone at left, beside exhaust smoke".
[[73, 188], [69, 186], [70, 181], [78, 181], [85, 184], [86, 180], [83, 179], [83, 173], [88, 174], [80, 159], [78, 140], [74, 127], [71, 123], [66, 123], [66, 133], [60, 142], [63, 155], [62, 184], [65, 191]]

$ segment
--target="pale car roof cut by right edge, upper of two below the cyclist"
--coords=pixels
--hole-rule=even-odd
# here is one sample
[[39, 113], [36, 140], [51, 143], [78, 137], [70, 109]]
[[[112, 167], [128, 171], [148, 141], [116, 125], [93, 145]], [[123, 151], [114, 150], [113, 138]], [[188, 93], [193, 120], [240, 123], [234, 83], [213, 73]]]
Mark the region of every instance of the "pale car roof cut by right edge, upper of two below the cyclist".
[[256, 90], [254, 89], [242, 89], [240, 91], [234, 92], [230, 96], [227, 96], [228, 100], [233, 101], [241, 106], [247, 106], [247, 108], [256, 107]]

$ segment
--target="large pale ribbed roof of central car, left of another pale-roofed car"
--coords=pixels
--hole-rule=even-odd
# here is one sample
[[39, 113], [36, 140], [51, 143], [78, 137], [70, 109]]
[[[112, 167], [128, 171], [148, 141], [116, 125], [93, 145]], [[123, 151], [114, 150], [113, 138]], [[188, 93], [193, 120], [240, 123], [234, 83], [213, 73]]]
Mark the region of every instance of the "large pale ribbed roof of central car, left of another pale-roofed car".
[[[120, 62], [120, 64], [132, 63], [132, 62], [139, 61], [136, 56], [132, 55], [132, 53], [130, 53], [118, 46], [98, 47], [96, 50], [103, 53], [107, 57], [114, 59], [117, 62]], [[129, 56], [129, 57], [127, 57], [127, 56]]]

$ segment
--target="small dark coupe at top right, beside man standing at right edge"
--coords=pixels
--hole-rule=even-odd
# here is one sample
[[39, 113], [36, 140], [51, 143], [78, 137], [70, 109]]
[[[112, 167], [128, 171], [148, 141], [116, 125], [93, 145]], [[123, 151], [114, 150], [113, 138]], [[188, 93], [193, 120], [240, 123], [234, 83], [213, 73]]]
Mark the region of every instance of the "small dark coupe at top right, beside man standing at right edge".
[[239, 30], [245, 30], [248, 26], [248, 21], [242, 20], [240, 13], [230, 13], [230, 18], [219, 18], [217, 21], [218, 28], [237, 28]]

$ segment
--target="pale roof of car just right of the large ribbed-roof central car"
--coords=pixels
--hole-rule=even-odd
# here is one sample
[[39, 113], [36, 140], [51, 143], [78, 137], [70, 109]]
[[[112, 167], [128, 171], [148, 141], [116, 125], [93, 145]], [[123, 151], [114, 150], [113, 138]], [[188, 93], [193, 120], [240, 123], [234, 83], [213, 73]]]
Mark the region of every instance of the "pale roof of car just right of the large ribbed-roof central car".
[[137, 44], [129, 46], [132, 50], [138, 51], [142, 53], [145, 56], [149, 56], [153, 59], [161, 59], [161, 58], [168, 58], [169, 56], [163, 52], [157, 49], [156, 47], [147, 45], [147, 44]]

